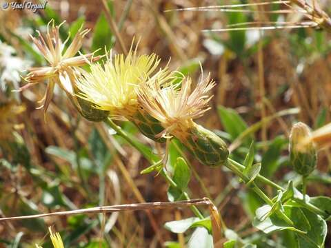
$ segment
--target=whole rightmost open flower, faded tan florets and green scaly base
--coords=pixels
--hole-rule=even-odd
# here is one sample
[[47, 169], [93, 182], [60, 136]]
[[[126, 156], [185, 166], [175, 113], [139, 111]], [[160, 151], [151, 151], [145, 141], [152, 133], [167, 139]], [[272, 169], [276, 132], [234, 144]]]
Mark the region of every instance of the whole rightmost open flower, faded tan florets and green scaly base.
[[204, 165], [223, 165], [228, 158], [228, 148], [224, 141], [193, 121], [210, 110], [208, 102], [212, 96], [209, 92], [214, 87], [210, 76], [199, 81], [194, 90], [191, 90], [190, 78], [183, 79], [180, 84], [163, 85], [167, 87], [161, 87], [155, 79], [151, 79], [139, 88], [141, 105], [164, 128], [158, 136], [176, 136]]

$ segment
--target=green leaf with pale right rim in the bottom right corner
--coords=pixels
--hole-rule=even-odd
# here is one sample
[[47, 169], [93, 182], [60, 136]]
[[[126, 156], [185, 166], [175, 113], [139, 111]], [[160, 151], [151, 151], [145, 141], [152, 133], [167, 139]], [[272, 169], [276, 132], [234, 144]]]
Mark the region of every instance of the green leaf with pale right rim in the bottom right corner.
[[325, 220], [321, 216], [312, 213], [308, 209], [302, 209], [305, 217], [309, 221], [310, 229], [307, 234], [298, 235], [299, 247], [310, 248], [310, 247], [324, 247], [326, 235], [328, 233], [328, 226]]

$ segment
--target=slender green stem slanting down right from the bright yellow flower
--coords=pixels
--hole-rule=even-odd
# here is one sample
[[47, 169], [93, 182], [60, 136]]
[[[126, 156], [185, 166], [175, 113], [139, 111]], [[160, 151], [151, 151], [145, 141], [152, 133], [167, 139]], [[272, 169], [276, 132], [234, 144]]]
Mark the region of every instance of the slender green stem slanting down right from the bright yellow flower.
[[[112, 127], [113, 130], [115, 130], [117, 132], [117, 134], [119, 134], [119, 136], [121, 136], [122, 138], [124, 138], [126, 141], [128, 141], [128, 143], [130, 143], [130, 145], [132, 145], [132, 147], [136, 148], [139, 152], [141, 152], [141, 154], [145, 154], [145, 152], [141, 149], [141, 147], [139, 145], [137, 145], [137, 143], [135, 141], [132, 140], [132, 138], [130, 138], [128, 136], [128, 134], [126, 134], [126, 132], [123, 132], [123, 130], [121, 129], [121, 127], [119, 127], [118, 125], [116, 125], [110, 118], [108, 118], [106, 120], [106, 123]], [[146, 159], [148, 159], [148, 161], [153, 164], [154, 161], [151, 158], [148, 158], [146, 156]], [[170, 178], [170, 176], [168, 175], [167, 171], [165, 170], [165, 168], [163, 168], [161, 170], [161, 175], [163, 176], [163, 178], [165, 178], [165, 180], [169, 183], [170, 186], [179, 189], [179, 191], [181, 191], [183, 193], [183, 196], [185, 197], [186, 200], [190, 200], [190, 197], [188, 196], [188, 193], [183, 191], [182, 189], [180, 189], [176, 183], [174, 183], [174, 180], [172, 180], [172, 178]], [[198, 217], [198, 218], [204, 218], [203, 215], [201, 214], [201, 212], [199, 211], [199, 209], [195, 206], [190, 207], [190, 209], [192, 209], [192, 212]]]

